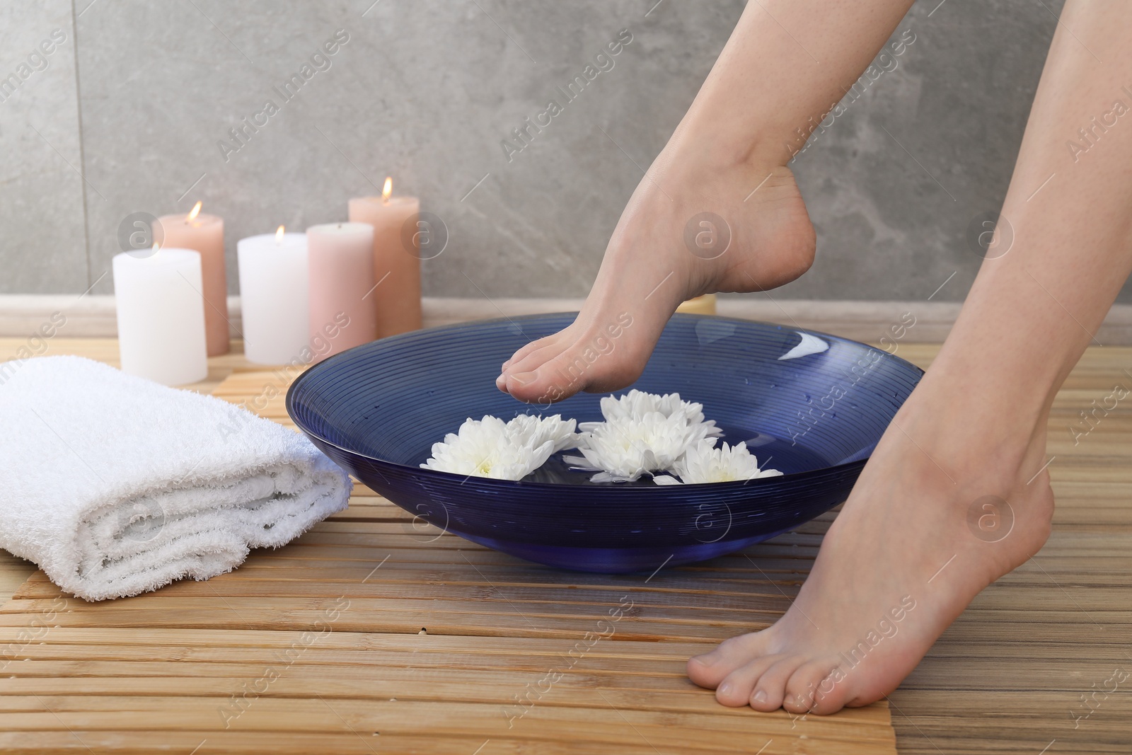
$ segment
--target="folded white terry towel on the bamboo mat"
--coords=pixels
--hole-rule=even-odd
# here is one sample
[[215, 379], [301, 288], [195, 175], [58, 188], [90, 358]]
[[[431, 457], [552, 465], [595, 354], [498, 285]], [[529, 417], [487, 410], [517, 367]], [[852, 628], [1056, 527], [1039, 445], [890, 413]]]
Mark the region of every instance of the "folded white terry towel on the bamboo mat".
[[230, 572], [346, 507], [305, 437], [79, 357], [0, 363], [0, 547], [86, 600]]

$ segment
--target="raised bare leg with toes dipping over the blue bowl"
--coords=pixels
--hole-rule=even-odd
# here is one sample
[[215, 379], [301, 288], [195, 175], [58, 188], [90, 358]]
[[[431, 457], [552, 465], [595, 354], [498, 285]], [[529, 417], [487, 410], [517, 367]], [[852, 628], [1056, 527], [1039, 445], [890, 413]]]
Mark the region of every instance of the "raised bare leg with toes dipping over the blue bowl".
[[[814, 229], [786, 163], [910, 5], [749, 3], [692, 108], [633, 192], [576, 321], [516, 352], [504, 363], [499, 388], [541, 402], [624, 387], [641, 374], [685, 299], [765, 290], [808, 269]], [[730, 246], [714, 259], [703, 258], [710, 250], [696, 256], [684, 241], [685, 226], [702, 212], [726, 218], [730, 228]], [[580, 360], [594, 337], [624, 324], [626, 314], [632, 326], [615, 351], [593, 363]]]

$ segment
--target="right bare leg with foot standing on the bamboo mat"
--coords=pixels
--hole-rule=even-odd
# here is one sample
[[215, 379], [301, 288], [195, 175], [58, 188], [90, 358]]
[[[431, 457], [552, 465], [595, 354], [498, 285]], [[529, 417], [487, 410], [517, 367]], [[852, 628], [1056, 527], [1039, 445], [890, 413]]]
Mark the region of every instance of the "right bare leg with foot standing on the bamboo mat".
[[[1132, 271], [1130, 32], [1129, 3], [1065, 3], [1003, 205], [1013, 247], [983, 264], [790, 610], [688, 662], [720, 702], [816, 713], [873, 702], [1045, 542], [1049, 407]], [[968, 524], [985, 496], [1013, 512], [997, 542]]]

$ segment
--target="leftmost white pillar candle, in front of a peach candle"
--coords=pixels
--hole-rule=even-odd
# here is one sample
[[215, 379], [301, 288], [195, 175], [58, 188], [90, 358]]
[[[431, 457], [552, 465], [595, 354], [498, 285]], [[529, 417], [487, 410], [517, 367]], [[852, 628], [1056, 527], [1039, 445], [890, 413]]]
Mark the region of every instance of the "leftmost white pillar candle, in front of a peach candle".
[[208, 376], [200, 252], [161, 249], [114, 255], [122, 371], [164, 385]]

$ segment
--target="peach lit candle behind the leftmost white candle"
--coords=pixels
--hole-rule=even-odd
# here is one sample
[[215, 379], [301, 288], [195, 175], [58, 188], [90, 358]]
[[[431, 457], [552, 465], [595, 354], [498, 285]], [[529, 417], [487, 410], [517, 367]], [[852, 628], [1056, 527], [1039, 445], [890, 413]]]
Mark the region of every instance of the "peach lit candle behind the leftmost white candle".
[[195, 249], [200, 252], [200, 274], [205, 298], [205, 334], [208, 355], [229, 350], [228, 280], [224, 269], [224, 220], [200, 214], [198, 201], [188, 215], [162, 215], [157, 218], [165, 237], [162, 247]]

